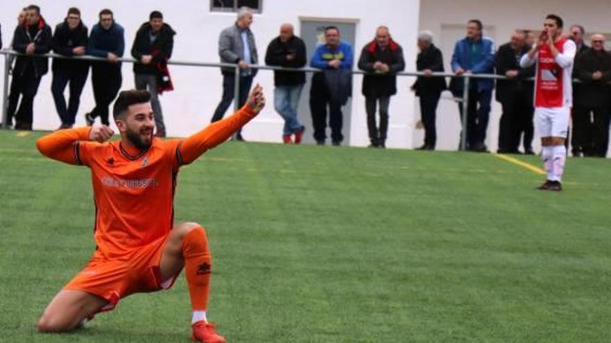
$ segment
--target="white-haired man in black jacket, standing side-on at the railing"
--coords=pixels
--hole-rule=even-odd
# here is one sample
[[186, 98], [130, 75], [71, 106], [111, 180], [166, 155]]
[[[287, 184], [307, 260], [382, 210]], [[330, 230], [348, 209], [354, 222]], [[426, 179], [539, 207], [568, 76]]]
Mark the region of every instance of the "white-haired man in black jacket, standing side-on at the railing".
[[433, 44], [433, 33], [422, 31], [418, 35], [420, 53], [416, 60], [416, 69], [424, 73], [418, 76], [412, 89], [420, 99], [420, 118], [424, 125], [424, 145], [417, 150], [435, 150], [437, 143], [437, 129], [435, 118], [437, 104], [442, 91], [446, 89], [445, 78], [432, 78], [433, 72], [444, 71], [444, 58], [442, 51]]

